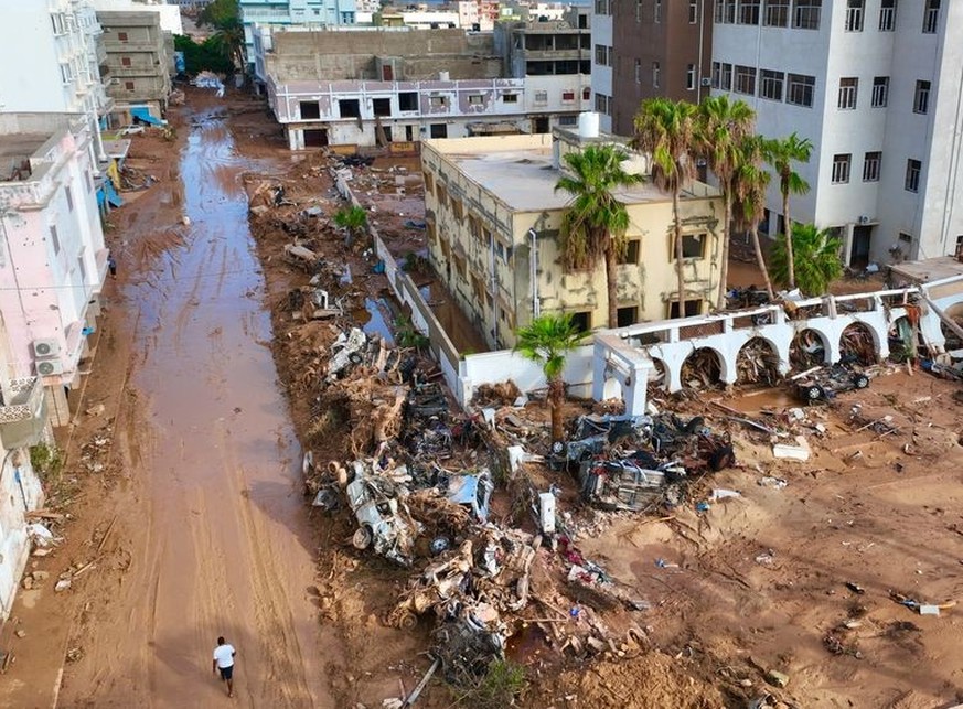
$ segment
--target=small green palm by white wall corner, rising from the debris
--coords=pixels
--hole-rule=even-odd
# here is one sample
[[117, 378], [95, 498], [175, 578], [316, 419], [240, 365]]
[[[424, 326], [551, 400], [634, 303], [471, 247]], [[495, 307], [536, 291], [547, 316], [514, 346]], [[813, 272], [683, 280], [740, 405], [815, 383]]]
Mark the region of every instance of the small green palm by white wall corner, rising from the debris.
[[560, 441], [565, 432], [561, 426], [561, 407], [565, 402], [565, 382], [561, 370], [566, 355], [574, 350], [581, 334], [567, 313], [546, 313], [531, 324], [520, 327], [515, 335], [515, 352], [526, 359], [542, 365], [548, 382], [548, 406], [552, 411], [552, 442]]

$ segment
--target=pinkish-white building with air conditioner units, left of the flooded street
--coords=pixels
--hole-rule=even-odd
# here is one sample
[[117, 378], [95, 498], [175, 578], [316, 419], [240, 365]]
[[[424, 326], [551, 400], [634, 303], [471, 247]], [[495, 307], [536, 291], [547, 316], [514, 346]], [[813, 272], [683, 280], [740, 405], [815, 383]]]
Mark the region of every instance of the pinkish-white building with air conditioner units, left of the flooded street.
[[54, 426], [99, 312], [107, 249], [83, 114], [0, 114], [0, 298], [10, 377], [41, 376]]

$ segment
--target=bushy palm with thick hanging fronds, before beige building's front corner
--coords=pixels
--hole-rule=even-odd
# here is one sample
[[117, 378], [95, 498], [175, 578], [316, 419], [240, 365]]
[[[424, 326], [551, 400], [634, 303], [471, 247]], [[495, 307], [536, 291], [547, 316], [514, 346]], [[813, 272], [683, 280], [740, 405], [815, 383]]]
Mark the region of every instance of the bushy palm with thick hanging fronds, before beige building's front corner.
[[625, 251], [629, 212], [612, 194], [642, 181], [642, 175], [622, 169], [628, 155], [616, 146], [589, 146], [581, 152], [565, 154], [571, 174], [563, 174], [555, 184], [571, 201], [561, 217], [561, 262], [567, 269], [595, 268], [599, 259], [606, 264], [606, 286], [609, 301], [609, 327], [617, 327], [618, 293], [616, 265]]

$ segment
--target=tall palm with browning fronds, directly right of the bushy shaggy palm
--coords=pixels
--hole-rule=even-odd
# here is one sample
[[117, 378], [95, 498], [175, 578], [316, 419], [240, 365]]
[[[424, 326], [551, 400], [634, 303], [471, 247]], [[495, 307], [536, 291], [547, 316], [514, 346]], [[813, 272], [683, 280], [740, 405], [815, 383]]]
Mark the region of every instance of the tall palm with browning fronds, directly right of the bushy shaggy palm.
[[689, 158], [694, 147], [695, 115], [696, 107], [687, 101], [648, 98], [635, 115], [635, 137], [632, 139], [634, 147], [650, 154], [650, 170], [655, 184], [672, 192], [680, 318], [685, 316], [685, 271], [678, 196], [683, 184], [695, 176], [695, 164]]

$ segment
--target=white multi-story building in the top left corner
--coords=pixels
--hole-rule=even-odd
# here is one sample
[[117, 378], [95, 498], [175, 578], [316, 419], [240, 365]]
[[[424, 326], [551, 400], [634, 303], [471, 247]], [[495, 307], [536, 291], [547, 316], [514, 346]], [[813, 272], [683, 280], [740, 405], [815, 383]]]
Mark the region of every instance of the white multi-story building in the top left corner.
[[84, 114], [95, 137], [89, 151], [96, 174], [107, 160], [98, 126], [113, 109], [99, 35], [90, 0], [13, 2], [0, 22], [0, 112]]

